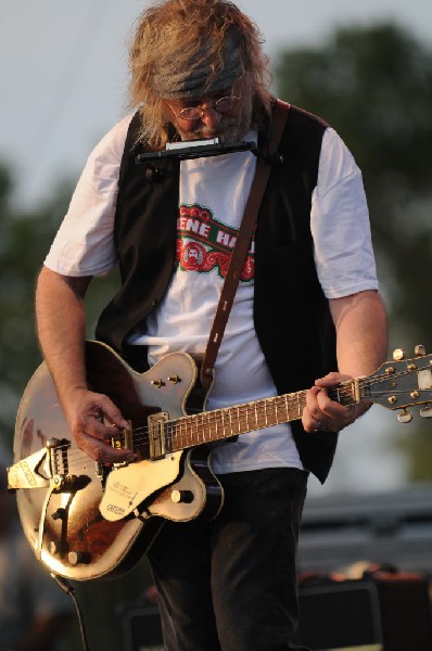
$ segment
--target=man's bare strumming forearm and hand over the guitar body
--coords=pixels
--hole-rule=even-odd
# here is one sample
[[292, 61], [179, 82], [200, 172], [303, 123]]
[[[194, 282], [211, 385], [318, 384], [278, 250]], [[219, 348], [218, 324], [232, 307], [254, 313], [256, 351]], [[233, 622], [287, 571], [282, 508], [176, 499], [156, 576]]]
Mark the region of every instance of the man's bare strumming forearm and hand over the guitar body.
[[135, 455], [126, 448], [113, 448], [105, 441], [129, 425], [106, 395], [87, 386], [82, 297], [90, 280], [43, 268], [36, 289], [37, 330], [78, 447], [101, 463], [123, 462]]

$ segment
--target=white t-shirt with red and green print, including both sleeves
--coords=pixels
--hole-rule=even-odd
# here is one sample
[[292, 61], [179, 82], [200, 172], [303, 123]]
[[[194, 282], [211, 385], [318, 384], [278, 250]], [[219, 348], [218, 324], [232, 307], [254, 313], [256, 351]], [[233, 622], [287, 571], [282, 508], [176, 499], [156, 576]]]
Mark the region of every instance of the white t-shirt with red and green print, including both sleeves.
[[[130, 117], [91, 153], [45, 261], [53, 271], [94, 276], [116, 264], [115, 201]], [[251, 132], [245, 140], [253, 138]], [[176, 270], [147, 319], [147, 332], [130, 340], [149, 346], [151, 363], [174, 350], [204, 352], [255, 164], [251, 152], [181, 162]], [[378, 289], [361, 175], [330, 128], [323, 135], [310, 227], [328, 298]], [[208, 410], [277, 394], [253, 327], [253, 270], [252, 244], [218, 352]], [[239, 436], [213, 452], [212, 467], [217, 473], [303, 468], [289, 424]]]

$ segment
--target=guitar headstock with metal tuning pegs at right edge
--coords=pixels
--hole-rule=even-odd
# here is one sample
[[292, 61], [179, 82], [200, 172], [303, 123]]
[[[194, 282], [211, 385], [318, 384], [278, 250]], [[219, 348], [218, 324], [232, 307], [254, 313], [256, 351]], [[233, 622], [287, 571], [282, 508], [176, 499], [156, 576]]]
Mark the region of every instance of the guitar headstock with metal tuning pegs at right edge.
[[408, 407], [419, 407], [422, 418], [432, 417], [432, 355], [416, 346], [415, 357], [406, 359], [405, 350], [393, 352], [393, 360], [358, 382], [360, 401], [378, 403], [392, 410], [402, 410], [402, 423], [412, 420]]

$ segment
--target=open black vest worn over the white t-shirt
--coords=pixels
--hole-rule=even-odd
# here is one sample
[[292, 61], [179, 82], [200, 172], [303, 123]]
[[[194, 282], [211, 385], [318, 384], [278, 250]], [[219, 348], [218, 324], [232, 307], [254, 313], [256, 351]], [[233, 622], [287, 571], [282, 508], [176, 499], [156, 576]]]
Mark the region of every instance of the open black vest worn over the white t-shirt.
[[[137, 114], [129, 127], [119, 171], [115, 244], [122, 286], [103, 310], [97, 337], [135, 368], [147, 353], [128, 346], [134, 330], [163, 298], [176, 255], [179, 162], [164, 161], [162, 175], [144, 179], [134, 144]], [[308, 388], [316, 378], [336, 369], [335, 337], [328, 301], [319, 284], [310, 234], [310, 201], [327, 125], [291, 107], [279, 152], [283, 165], [271, 170], [255, 233], [254, 326], [279, 394]], [[305, 468], [323, 482], [338, 436], [307, 434], [292, 423]]]

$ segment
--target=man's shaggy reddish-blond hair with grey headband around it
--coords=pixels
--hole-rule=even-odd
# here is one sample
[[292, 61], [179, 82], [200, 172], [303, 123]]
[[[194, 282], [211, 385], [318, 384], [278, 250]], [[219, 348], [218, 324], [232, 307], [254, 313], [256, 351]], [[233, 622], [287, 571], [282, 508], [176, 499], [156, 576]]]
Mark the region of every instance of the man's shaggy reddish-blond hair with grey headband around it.
[[252, 123], [259, 126], [271, 97], [262, 42], [256, 25], [228, 0], [166, 0], [147, 9], [129, 50], [129, 106], [141, 112], [139, 138], [162, 149], [170, 118], [164, 99], [202, 97], [237, 79], [250, 89]]

